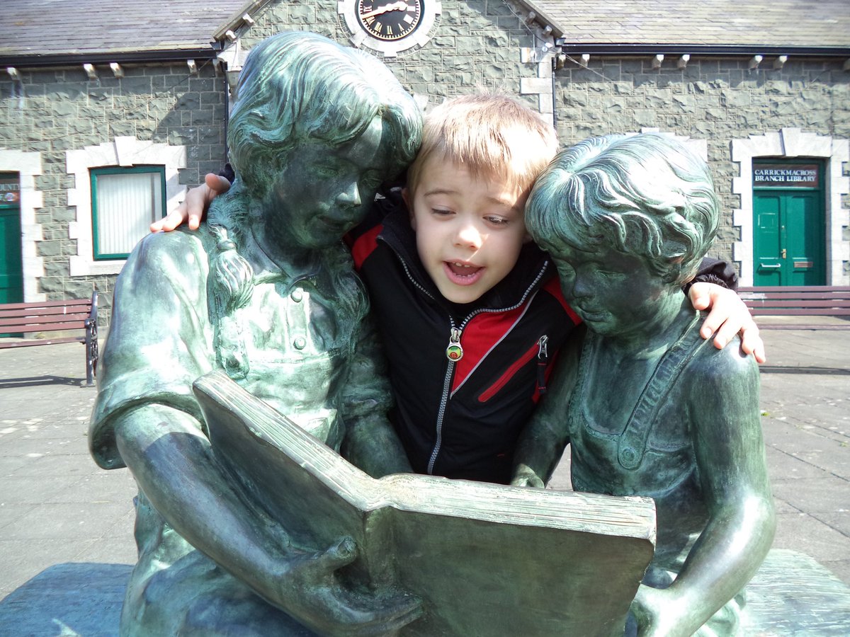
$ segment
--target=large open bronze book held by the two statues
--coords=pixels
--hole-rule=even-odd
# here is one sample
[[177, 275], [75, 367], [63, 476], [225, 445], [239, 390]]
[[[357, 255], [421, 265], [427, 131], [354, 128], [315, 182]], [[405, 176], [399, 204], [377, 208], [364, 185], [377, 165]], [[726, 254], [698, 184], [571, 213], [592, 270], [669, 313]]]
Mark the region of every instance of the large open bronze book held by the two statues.
[[357, 543], [349, 585], [404, 590], [402, 635], [623, 634], [655, 544], [651, 499], [437, 476], [379, 480], [222, 372], [195, 382], [213, 453], [293, 543]]

